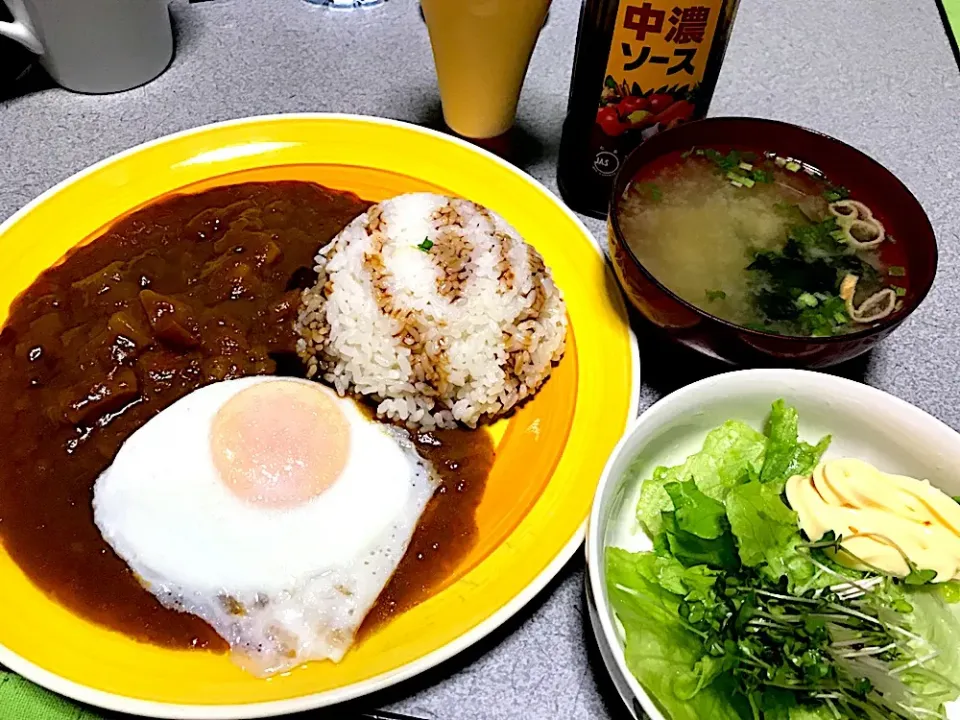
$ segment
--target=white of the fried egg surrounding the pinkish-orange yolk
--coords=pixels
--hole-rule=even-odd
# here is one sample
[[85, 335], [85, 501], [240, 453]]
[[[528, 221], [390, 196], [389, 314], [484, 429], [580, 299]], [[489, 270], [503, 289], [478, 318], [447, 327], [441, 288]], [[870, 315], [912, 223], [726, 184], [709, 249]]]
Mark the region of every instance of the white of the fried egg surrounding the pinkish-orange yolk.
[[131, 435], [93, 495], [101, 534], [141, 583], [210, 623], [257, 674], [343, 656], [438, 484], [404, 431], [338, 399], [350, 453], [330, 488], [287, 509], [238, 498], [218, 477], [211, 424], [233, 395], [276, 381], [316, 387], [200, 388]]

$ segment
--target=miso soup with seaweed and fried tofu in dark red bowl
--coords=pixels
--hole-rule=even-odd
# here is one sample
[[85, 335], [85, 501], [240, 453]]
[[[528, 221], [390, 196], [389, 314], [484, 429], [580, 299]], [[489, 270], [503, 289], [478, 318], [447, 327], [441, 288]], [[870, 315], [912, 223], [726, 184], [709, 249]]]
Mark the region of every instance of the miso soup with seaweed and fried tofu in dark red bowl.
[[879, 210], [794, 158], [692, 148], [641, 170], [618, 216], [641, 264], [687, 302], [755, 330], [822, 337], [902, 306], [907, 270]]

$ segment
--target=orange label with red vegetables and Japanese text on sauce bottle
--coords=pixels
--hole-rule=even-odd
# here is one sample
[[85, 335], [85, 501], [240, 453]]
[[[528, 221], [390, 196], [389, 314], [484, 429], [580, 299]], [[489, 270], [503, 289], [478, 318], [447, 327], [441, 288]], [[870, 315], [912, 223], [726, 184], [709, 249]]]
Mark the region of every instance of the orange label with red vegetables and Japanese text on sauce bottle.
[[644, 140], [703, 116], [700, 82], [718, 27], [732, 19], [724, 11], [724, 0], [620, 2], [593, 132], [595, 173], [614, 175]]

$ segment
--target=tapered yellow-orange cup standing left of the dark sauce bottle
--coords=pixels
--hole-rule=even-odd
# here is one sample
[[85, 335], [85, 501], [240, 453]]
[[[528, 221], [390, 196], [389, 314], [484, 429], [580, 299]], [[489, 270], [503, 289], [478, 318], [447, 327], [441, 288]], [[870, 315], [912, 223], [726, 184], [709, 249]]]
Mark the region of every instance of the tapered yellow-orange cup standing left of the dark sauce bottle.
[[437, 65], [443, 118], [468, 138], [513, 125], [550, 0], [421, 0]]

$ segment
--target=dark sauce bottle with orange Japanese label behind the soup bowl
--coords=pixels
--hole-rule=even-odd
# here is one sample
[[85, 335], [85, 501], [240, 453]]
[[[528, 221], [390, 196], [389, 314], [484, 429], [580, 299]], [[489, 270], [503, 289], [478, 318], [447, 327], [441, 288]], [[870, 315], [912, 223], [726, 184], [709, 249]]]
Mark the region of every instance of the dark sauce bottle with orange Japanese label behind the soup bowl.
[[637, 145], [707, 114], [739, 0], [584, 0], [557, 182], [578, 212], [606, 217]]

